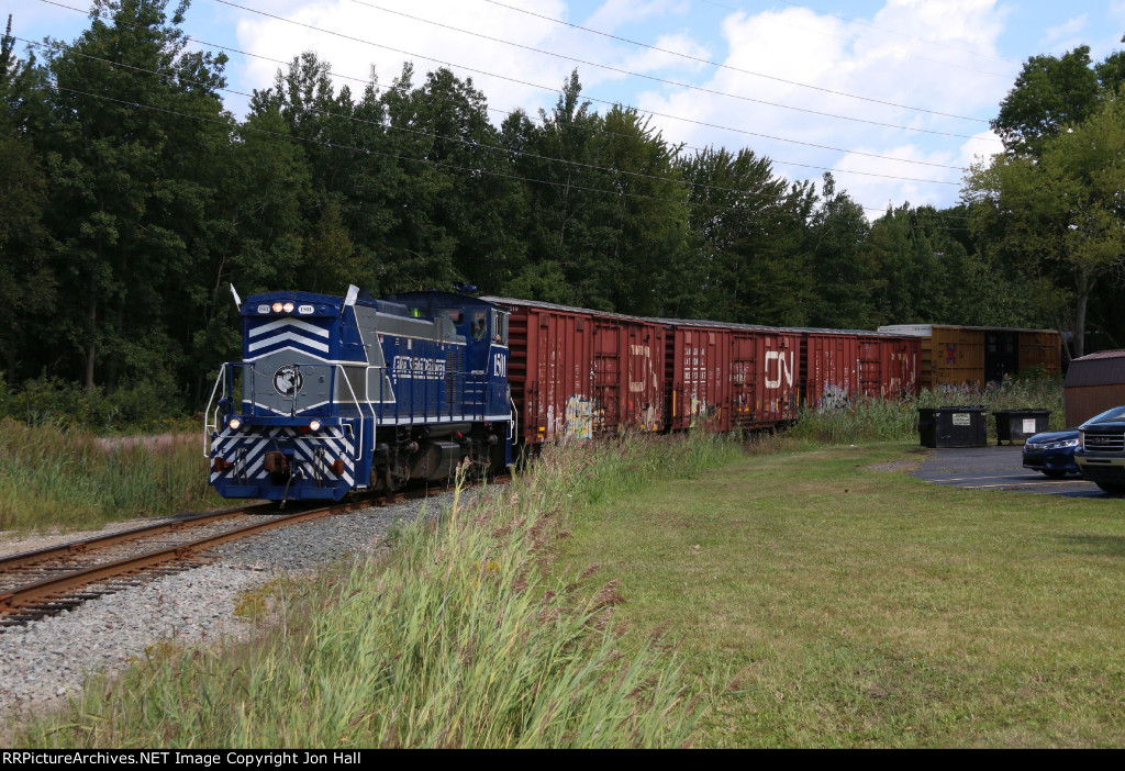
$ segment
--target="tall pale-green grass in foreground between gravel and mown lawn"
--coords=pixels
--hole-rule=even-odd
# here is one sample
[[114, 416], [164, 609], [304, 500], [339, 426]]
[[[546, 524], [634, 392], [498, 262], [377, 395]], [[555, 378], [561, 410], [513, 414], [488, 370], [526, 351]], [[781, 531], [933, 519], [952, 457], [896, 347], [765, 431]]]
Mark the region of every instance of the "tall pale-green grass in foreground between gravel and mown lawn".
[[[548, 447], [511, 487], [460, 500], [395, 547], [297, 584], [252, 645], [161, 652], [91, 686], [33, 746], [651, 747], [699, 710], [674, 646], [622, 640], [615, 580], [562, 570], [590, 501], [739, 452], [723, 437]], [[630, 641], [636, 637], [630, 636]]]

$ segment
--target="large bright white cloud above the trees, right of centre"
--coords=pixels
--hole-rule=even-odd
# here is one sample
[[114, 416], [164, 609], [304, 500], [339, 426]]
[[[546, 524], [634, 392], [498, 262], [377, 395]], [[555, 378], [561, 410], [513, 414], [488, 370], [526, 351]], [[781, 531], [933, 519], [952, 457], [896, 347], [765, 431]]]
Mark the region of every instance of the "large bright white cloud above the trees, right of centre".
[[[791, 179], [818, 180], [821, 172], [784, 162], [831, 169], [838, 185], [867, 207], [881, 209], [888, 200], [896, 205], [909, 200], [948, 206], [957, 198], [961, 166], [972, 153], [1000, 148], [990, 140], [994, 137], [987, 121], [1011, 81], [978, 71], [987, 65], [1001, 66], [982, 58], [996, 55], [996, 40], [1004, 29], [1005, 13], [996, 6], [994, 0], [890, 0], [866, 24], [804, 8], [739, 12], [723, 20], [729, 52], [724, 64], [731, 69], [716, 71], [702, 83], [708, 89], [857, 120], [687, 90], [650, 91], [641, 98], [641, 105], [742, 131], [658, 118], [669, 139], [731, 149], [748, 146], [773, 158], [777, 171]], [[940, 45], [924, 46], [919, 38]], [[934, 57], [919, 58], [919, 51], [933, 53]], [[868, 215], [878, 216], [878, 211]]]

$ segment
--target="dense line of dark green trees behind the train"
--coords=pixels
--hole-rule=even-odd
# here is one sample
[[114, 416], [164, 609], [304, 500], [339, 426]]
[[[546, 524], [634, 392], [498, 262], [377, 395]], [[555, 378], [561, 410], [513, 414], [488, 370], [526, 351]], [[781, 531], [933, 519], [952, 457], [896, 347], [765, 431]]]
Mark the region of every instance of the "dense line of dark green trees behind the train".
[[[498, 126], [469, 79], [407, 63], [336, 88], [308, 52], [223, 102], [188, 2], [94, 0], [69, 44], [0, 46], [0, 371], [198, 409], [237, 359], [227, 284], [374, 296], [454, 282], [644, 316], [874, 328], [1050, 327], [1125, 343], [1117, 312], [1125, 65], [1033, 57], [963, 202], [868, 220], [830, 174], [687, 152], [582, 98]], [[1076, 96], [1078, 94], [1078, 96]]]

